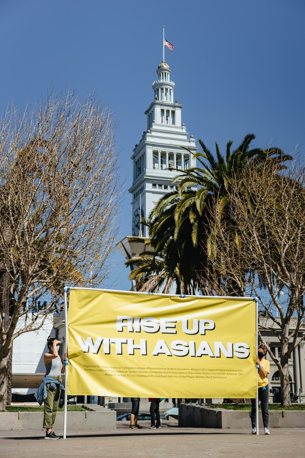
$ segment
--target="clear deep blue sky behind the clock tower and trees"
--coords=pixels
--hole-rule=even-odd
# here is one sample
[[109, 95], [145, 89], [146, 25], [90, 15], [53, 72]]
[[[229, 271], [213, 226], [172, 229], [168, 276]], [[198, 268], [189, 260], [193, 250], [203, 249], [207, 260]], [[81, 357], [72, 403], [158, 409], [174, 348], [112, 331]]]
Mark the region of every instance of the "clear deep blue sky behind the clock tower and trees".
[[[130, 156], [146, 128], [145, 109], [162, 58], [162, 26], [175, 98], [187, 131], [215, 151], [247, 133], [253, 146], [304, 156], [305, 2], [303, 0], [0, 0], [0, 110], [37, 101], [51, 86], [92, 89], [111, 104], [126, 188]], [[131, 234], [125, 192], [121, 235]], [[118, 252], [109, 282], [129, 289]]]

